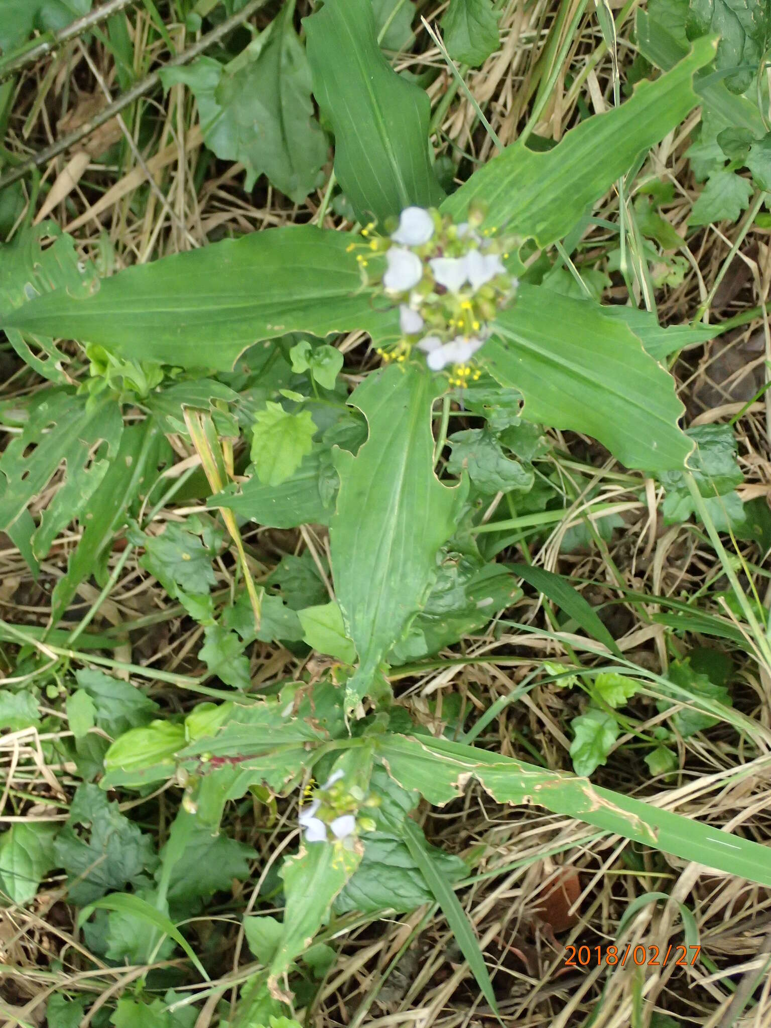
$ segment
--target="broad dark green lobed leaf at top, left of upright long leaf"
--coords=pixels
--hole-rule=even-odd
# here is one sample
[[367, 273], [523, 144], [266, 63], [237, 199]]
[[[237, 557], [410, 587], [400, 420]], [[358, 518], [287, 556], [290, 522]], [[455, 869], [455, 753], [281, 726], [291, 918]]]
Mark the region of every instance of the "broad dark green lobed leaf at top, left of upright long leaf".
[[168, 89], [184, 82], [198, 104], [204, 142], [223, 160], [246, 166], [247, 191], [263, 173], [277, 189], [301, 204], [327, 159], [327, 139], [314, 116], [310, 69], [294, 30], [294, 3], [228, 65], [198, 58], [187, 68], [167, 68]]

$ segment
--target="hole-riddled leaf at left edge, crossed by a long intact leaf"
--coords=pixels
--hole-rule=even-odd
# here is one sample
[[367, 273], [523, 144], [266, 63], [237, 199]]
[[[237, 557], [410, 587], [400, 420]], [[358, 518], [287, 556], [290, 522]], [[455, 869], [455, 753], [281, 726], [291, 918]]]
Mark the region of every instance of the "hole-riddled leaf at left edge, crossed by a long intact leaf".
[[[21, 0], [28, 6], [30, 0]], [[33, 0], [34, 3], [34, 0]], [[0, 41], [5, 11], [0, 14]], [[1, 45], [1, 42], [0, 42]], [[6, 48], [2, 49], [7, 52]], [[41, 244], [50, 241], [45, 249]], [[10, 243], [0, 246], [0, 301], [3, 306], [21, 307], [28, 300], [54, 289], [64, 289], [73, 298], [96, 290], [96, 271], [75, 250], [75, 241], [52, 221], [23, 226]], [[8, 341], [31, 368], [50, 381], [71, 381], [65, 367], [70, 357], [49, 335], [33, 335], [16, 329], [7, 331]]]

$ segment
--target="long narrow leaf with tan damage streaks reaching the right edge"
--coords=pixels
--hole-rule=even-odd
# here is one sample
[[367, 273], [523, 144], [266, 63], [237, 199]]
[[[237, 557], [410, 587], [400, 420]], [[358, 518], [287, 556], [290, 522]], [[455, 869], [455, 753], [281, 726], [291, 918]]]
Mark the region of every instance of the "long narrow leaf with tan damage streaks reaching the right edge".
[[447, 803], [476, 778], [499, 803], [535, 803], [685, 860], [771, 885], [771, 853], [767, 846], [661, 810], [644, 800], [599, 788], [587, 778], [545, 771], [445, 739], [384, 735], [375, 745], [394, 778], [404, 788], [417, 790], [432, 803]]

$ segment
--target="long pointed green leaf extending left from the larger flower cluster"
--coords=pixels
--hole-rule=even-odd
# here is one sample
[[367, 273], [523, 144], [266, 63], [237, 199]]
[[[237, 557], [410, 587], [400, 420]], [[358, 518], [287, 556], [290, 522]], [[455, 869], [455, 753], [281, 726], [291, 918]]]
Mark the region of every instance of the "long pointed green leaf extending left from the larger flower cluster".
[[396, 336], [398, 318], [362, 286], [351, 236], [271, 228], [126, 268], [97, 293], [63, 289], [0, 315], [0, 327], [97, 342], [134, 360], [229, 371], [255, 342], [361, 328]]

